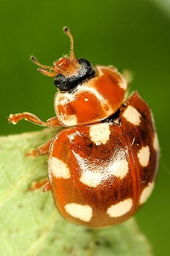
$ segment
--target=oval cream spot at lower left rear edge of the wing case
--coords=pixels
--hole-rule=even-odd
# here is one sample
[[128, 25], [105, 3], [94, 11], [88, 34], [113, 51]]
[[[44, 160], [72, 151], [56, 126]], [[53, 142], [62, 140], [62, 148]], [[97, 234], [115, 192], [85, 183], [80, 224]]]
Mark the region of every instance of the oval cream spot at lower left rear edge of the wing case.
[[82, 221], [87, 222], [92, 218], [92, 208], [90, 205], [70, 203], [65, 205], [65, 210], [74, 218], [79, 218]]

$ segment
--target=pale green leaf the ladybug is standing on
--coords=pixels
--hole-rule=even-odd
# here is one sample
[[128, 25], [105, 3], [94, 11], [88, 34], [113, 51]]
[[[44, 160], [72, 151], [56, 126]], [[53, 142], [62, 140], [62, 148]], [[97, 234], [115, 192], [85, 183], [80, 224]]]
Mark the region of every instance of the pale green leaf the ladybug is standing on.
[[47, 175], [47, 163], [46, 156], [25, 157], [25, 152], [55, 133], [44, 129], [0, 138], [0, 255], [152, 255], [134, 218], [105, 229], [74, 225], [59, 215], [50, 192], [28, 191]]

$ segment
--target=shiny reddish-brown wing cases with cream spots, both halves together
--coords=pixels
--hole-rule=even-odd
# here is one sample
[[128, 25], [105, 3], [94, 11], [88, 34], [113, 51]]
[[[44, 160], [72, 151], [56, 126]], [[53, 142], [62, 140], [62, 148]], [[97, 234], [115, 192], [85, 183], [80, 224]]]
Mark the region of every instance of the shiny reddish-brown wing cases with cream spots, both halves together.
[[117, 119], [60, 131], [49, 152], [54, 202], [75, 223], [102, 227], [125, 221], [154, 188], [158, 138], [150, 109], [137, 92]]

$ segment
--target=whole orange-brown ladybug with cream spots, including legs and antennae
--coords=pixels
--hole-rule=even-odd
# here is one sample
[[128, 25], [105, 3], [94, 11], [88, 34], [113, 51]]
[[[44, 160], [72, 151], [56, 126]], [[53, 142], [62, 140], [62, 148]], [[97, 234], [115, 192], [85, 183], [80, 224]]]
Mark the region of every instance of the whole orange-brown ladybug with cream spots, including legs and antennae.
[[41, 65], [40, 73], [54, 77], [56, 117], [42, 122], [31, 113], [12, 114], [36, 125], [62, 126], [56, 136], [29, 155], [48, 153], [48, 179], [32, 189], [52, 191], [66, 220], [101, 228], [133, 216], [154, 188], [159, 143], [151, 110], [138, 92], [127, 97], [127, 81], [114, 67], [70, 56]]

